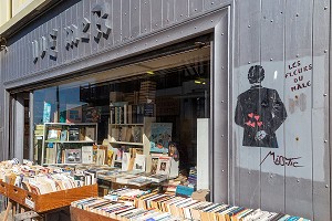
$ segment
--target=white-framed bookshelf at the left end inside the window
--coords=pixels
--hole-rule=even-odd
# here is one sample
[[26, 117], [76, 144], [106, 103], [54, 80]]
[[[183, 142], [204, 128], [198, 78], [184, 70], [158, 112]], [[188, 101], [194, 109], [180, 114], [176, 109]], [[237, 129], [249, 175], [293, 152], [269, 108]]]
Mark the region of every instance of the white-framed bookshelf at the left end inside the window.
[[97, 139], [96, 123], [45, 123], [42, 137], [41, 165], [75, 165], [82, 162], [82, 146]]

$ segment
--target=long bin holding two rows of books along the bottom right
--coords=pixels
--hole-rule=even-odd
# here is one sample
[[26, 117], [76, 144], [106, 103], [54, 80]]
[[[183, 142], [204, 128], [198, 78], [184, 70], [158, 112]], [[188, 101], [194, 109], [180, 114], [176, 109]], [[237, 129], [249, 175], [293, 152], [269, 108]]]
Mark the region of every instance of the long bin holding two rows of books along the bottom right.
[[[92, 214], [95, 213], [95, 214]], [[71, 203], [71, 214], [74, 220], [82, 214], [94, 220], [200, 220], [200, 221], [249, 221], [249, 220], [301, 220], [300, 217], [247, 209], [243, 207], [212, 203], [193, 198], [120, 189], [104, 198], [87, 198]]]

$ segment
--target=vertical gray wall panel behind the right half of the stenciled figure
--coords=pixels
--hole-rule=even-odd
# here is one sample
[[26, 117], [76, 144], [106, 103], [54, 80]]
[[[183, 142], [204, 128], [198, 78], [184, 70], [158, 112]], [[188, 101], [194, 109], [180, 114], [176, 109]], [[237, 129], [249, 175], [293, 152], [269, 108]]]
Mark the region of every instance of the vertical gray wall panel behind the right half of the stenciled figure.
[[[284, 0], [261, 1], [261, 65], [266, 77], [263, 86], [273, 88], [283, 97], [284, 85]], [[261, 148], [260, 162], [273, 151], [276, 156], [284, 156], [283, 126], [277, 129], [279, 148]], [[261, 164], [261, 208], [263, 210], [284, 212], [284, 167], [276, 165], [269, 157]], [[271, 200], [273, 199], [273, 200]]]

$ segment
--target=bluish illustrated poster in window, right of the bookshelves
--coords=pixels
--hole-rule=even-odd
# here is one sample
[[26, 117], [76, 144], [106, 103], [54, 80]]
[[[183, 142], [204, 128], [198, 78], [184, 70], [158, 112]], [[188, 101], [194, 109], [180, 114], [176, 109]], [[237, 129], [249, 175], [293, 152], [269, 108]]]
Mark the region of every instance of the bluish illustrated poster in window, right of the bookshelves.
[[168, 143], [172, 141], [172, 123], [152, 123], [151, 151], [168, 152]]

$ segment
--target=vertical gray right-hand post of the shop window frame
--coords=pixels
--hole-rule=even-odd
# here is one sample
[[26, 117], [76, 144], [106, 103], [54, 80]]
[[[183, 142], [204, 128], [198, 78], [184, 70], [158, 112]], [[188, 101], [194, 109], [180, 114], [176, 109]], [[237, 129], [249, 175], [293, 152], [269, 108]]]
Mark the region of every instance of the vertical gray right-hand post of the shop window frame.
[[[229, 116], [229, 69], [231, 67], [229, 27], [230, 27], [230, 7], [227, 8], [227, 14], [218, 22], [215, 28], [214, 43], [214, 80], [212, 80], [212, 200], [216, 202], [228, 203], [229, 200], [229, 144], [231, 139], [228, 125]], [[218, 189], [217, 189], [218, 188]]]

